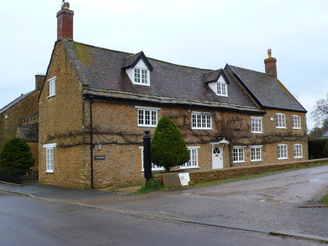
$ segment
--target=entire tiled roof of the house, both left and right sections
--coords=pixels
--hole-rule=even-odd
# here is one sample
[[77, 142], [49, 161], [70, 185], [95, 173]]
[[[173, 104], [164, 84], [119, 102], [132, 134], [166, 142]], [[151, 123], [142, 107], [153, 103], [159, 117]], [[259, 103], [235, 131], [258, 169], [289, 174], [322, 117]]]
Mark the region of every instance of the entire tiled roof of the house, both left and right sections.
[[[136, 54], [99, 48], [61, 39], [77, 70], [81, 83], [88, 90], [117, 91], [130, 93], [131, 98], [171, 98], [177, 104], [185, 99], [186, 104], [201, 101], [202, 106], [222, 107], [241, 111], [263, 113], [260, 106], [305, 111], [297, 100], [271, 75], [233, 67], [245, 85], [238, 81], [228, 69], [211, 70], [180, 66]], [[153, 69], [150, 72], [150, 85], [134, 85], [125, 71], [136, 60], [144, 56]], [[151, 70], [151, 69], [150, 69]], [[228, 80], [228, 97], [218, 96], [208, 83], [216, 81], [223, 74]], [[257, 84], [262, 83], [261, 86]], [[274, 84], [274, 85], [272, 85]], [[277, 90], [278, 89], [278, 90]], [[272, 94], [274, 91], [274, 94]], [[271, 94], [270, 94], [271, 93]], [[103, 93], [105, 95], [105, 92]], [[134, 97], [133, 97], [134, 95]], [[257, 98], [259, 100], [257, 100]], [[178, 100], [176, 100], [178, 99]], [[272, 101], [271, 101], [272, 100]], [[170, 99], [166, 100], [167, 102]], [[260, 101], [260, 105], [259, 104]], [[263, 107], [262, 107], [263, 108]]]

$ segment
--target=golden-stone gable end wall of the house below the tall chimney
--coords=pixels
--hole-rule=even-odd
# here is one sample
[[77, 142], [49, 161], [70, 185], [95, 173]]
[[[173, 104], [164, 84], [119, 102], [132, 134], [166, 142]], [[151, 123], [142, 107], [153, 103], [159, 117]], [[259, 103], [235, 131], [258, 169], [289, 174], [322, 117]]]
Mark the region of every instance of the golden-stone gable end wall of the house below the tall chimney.
[[[49, 97], [49, 79], [56, 77], [56, 93]], [[51, 57], [45, 84], [39, 99], [39, 183], [71, 188], [90, 186], [85, 164], [83, 86], [73, 69], [63, 43], [59, 40]], [[89, 141], [86, 139], [86, 141]], [[54, 170], [46, 172], [44, 144], [53, 148]], [[90, 158], [89, 158], [90, 160]], [[89, 175], [90, 176], [90, 175]]]

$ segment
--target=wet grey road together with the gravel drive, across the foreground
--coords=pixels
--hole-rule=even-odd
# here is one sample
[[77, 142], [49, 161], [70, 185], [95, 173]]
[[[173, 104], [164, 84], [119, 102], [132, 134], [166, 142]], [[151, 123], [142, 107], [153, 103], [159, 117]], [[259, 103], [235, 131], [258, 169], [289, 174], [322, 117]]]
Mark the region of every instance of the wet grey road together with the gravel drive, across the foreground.
[[0, 192], [0, 245], [322, 245], [174, 219], [327, 236], [327, 208], [297, 208], [316, 202], [327, 190], [327, 174], [328, 167], [320, 167], [215, 187], [76, 203]]

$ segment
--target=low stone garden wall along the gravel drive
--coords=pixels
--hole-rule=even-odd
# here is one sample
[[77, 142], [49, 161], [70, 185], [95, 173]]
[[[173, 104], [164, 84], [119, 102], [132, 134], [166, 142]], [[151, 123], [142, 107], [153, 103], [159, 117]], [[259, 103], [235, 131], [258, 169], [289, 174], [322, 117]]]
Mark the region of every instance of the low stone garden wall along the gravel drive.
[[[328, 162], [328, 158], [313, 159], [313, 160], [301, 160], [301, 161], [289, 161], [265, 165], [254, 165], [254, 166], [243, 166], [233, 168], [222, 168], [222, 169], [207, 169], [207, 170], [190, 170], [190, 180], [193, 182], [211, 181], [226, 178], [235, 178], [244, 175], [258, 174], [268, 171], [278, 171], [289, 168], [301, 168], [310, 166], [313, 163], [324, 163]], [[153, 175], [154, 179], [162, 181], [162, 175], [156, 173]]]

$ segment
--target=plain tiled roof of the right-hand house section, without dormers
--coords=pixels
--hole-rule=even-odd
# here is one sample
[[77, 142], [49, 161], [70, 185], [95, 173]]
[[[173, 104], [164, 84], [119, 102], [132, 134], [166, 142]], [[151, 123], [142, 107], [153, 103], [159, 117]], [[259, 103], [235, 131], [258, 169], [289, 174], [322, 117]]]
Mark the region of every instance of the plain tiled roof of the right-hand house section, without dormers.
[[[229, 67], [227, 65], [226, 67]], [[230, 66], [263, 107], [306, 112], [295, 97], [274, 76]], [[232, 71], [232, 73], [234, 73]]]

